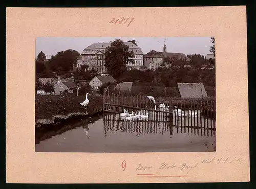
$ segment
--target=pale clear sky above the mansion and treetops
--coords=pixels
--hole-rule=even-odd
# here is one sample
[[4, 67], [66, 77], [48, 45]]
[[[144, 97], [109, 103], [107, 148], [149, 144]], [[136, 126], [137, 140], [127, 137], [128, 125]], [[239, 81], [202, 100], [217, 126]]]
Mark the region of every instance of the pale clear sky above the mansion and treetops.
[[69, 49], [76, 50], [80, 54], [83, 49], [92, 43], [110, 42], [121, 39], [124, 42], [136, 40], [143, 54], [151, 50], [163, 52], [164, 39], [167, 52], [201, 54], [206, 56], [209, 53], [211, 37], [36, 37], [36, 55], [42, 51], [45, 55], [56, 55], [60, 51]]

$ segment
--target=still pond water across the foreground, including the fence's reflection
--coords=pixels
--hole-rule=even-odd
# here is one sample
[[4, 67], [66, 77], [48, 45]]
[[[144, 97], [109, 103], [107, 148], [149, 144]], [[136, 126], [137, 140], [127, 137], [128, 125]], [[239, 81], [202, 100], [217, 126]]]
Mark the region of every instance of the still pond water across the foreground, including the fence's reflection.
[[[173, 117], [169, 121], [123, 121], [119, 114], [79, 118], [65, 125], [39, 128], [36, 152], [212, 152], [215, 128]], [[176, 121], [175, 121], [176, 120]], [[186, 120], [186, 121], [185, 121]], [[178, 122], [179, 121], [179, 122]], [[208, 125], [215, 125], [208, 120]], [[200, 123], [200, 121], [199, 121]], [[182, 125], [182, 126], [181, 126]], [[192, 126], [192, 127], [191, 127]]]

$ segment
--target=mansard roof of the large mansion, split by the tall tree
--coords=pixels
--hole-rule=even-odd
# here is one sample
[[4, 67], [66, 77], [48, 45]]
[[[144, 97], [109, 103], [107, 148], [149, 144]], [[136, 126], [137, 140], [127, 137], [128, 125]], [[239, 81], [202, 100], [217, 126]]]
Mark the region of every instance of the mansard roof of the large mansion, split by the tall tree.
[[[129, 46], [129, 51], [134, 52], [134, 54], [143, 54], [139, 46], [133, 44], [132, 42], [124, 42], [125, 45]], [[111, 42], [101, 42], [101, 43], [93, 43], [83, 50], [82, 54], [95, 54], [99, 51], [99, 49], [105, 50], [108, 46], [111, 45]], [[91, 51], [91, 52], [88, 52]]]

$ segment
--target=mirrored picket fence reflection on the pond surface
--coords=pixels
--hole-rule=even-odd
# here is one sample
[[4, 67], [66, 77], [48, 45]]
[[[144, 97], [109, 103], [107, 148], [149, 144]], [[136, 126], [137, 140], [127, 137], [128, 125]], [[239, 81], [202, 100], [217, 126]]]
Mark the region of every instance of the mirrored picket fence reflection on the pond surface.
[[163, 134], [168, 132], [170, 136], [173, 135], [173, 132], [177, 133], [188, 133], [188, 134], [198, 134], [198, 135], [211, 135], [215, 136], [215, 128], [199, 127], [199, 126], [180, 126], [175, 125], [173, 122], [162, 121], [133, 121], [125, 122], [120, 119], [118, 114], [104, 114], [103, 117], [105, 132], [117, 133], [117, 132], [126, 132], [126, 133], [136, 133], [137, 135], [145, 134]]

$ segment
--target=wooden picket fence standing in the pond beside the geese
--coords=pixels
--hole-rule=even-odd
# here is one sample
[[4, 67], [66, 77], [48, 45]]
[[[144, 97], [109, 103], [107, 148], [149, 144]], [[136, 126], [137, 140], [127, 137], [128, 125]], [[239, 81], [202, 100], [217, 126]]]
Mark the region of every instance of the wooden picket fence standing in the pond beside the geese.
[[[122, 113], [124, 109], [136, 114], [140, 111], [148, 113], [148, 121], [174, 122], [176, 126], [216, 129], [216, 100], [180, 99], [171, 97], [155, 97], [155, 102], [140, 95], [117, 95], [104, 92], [103, 110], [105, 112]], [[163, 107], [165, 106], [165, 107]]]

